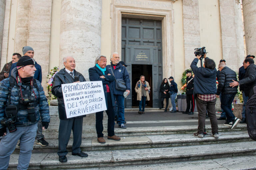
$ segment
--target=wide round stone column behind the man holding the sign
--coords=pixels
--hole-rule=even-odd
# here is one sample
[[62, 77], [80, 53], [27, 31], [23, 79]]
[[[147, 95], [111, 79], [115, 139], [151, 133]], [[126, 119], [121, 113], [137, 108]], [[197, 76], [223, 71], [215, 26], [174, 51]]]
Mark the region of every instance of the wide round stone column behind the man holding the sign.
[[73, 56], [76, 70], [89, 80], [88, 69], [100, 54], [102, 0], [62, 0], [60, 68], [62, 59]]

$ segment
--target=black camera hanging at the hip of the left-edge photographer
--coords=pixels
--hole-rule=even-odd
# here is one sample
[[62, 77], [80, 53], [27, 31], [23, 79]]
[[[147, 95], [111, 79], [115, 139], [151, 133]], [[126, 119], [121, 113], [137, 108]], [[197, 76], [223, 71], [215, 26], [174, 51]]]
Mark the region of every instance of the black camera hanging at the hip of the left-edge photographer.
[[15, 105], [8, 105], [5, 108], [7, 118], [1, 120], [1, 125], [8, 127], [9, 132], [17, 130], [15, 122], [17, 117], [17, 107]]

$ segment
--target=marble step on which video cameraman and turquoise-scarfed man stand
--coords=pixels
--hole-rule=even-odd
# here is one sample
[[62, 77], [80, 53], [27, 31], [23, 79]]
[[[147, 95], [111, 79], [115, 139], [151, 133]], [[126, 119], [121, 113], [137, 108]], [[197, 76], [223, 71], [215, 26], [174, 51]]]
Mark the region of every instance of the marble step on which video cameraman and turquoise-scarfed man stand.
[[[223, 131], [219, 133], [219, 138], [215, 139], [212, 135], [206, 135], [204, 138], [196, 138], [193, 133], [187, 134], [165, 134], [165, 135], [142, 135], [142, 136], [121, 136], [120, 141], [106, 140], [105, 144], [97, 141], [97, 138], [83, 138], [81, 149], [84, 151], [91, 150], [117, 150], [117, 149], [133, 149], [133, 148], [150, 148], [150, 147], [173, 147], [184, 145], [199, 145], [213, 143], [227, 143], [236, 141], [249, 141], [248, 132], [240, 131]], [[57, 152], [58, 140], [49, 139], [49, 146], [34, 144], [34, 153], [38, 152]], [[73, 139], [69, 140], [68, 151], [71, 151]], [[19, 153], [19, 147], [15, 149], [15, 153]]]

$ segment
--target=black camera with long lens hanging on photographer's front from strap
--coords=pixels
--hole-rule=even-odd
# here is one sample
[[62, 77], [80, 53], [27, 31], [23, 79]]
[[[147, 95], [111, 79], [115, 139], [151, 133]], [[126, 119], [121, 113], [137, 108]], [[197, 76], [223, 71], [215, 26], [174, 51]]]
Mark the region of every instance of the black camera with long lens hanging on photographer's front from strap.
[[22, 91], [23, 96], [20, 96], [20, 103], [27, 106], [28, 120], [31, 122], [36, 121], [36, 113], [34, 102], [36, 101], [35, 96], [32, 96], [31, 90]]

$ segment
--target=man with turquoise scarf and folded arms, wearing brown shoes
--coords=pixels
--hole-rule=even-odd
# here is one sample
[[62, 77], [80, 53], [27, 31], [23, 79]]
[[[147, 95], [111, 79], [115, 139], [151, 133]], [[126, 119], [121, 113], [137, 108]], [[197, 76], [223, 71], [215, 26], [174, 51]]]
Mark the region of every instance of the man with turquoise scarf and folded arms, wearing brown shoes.
[[[107, 59], [106, 56], [99, 55], [95, 59], [95, 66], [89, 69], [90, 81], [102, 81], [105, 100], [107, 105], [106, 113], [108, 115], [108, 139], [120, 140], [120, 137], [115, 135], [115, 100], [113, 95], [113, 87], [110, 86], [110, 82], [114, 81], [115, 78], [106, 70]], [[96, 131], [99, 143], [106, 143], [103, 138], [103, 111], [96, 113]]]

